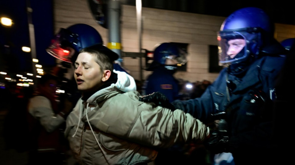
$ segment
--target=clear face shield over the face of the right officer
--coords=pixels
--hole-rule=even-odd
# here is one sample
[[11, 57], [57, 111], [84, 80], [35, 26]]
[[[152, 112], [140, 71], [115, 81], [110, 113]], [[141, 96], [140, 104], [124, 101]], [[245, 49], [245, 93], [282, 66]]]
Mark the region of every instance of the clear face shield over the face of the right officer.
[[238, 32], [218, 33], [219, 65], [239, 63], [247, 57], [247, 40]]

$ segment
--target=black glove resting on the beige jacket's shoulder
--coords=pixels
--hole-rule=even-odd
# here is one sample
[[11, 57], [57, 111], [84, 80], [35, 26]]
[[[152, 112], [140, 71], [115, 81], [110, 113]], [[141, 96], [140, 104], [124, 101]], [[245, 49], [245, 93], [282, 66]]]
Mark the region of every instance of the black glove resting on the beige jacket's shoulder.
[[172, 111], [175, 110], [175, 107], [169, 102], [168, 98], [163, 93], [160, 93], [160, 92], [154, 92], [152, 94], [142, 96], [139, 98], [139, 101], [153, 102], [156, 104], [156, 106], [162, 106]]

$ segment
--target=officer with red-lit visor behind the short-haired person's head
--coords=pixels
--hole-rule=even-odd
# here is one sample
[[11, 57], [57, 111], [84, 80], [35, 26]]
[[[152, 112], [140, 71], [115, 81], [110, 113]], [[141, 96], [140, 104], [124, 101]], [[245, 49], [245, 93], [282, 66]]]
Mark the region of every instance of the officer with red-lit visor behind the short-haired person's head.
[[[61, 88], [65, 90], [66, 98], [69, 98], [72, 102], [76, 102], [80, 97], [79, 91], [76, 90], [76, 82], [73, 79], [74, 62], [77, 59], [79, 50], [86, 47], [100, 51], [104, 50], [112, 61], [118, 60], [119, 55], [104, 46], [98, 31], [87, 24], [74, 24], [68, 28], [61, 28], [52, 38], [51, 45], [46, 49], [49, 54], [62, 60], [62, 66], [57, 67], [59, 71], [56, 72], [58, 72], [57, 75], [64, 79], [62, 82], [66, 84], [61, 84]], [[116, 71], [128, 73], [118, 63], [114, 62], [113, 66]], [[65, 97], [60, 98], [64, 99]]]

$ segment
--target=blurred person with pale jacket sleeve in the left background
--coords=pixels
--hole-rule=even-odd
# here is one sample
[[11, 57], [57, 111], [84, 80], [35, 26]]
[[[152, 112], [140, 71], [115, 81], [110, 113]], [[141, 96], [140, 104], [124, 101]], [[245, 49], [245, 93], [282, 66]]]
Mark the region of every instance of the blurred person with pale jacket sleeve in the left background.
[[62, 130], [73, 105], [65, 101], [64, 108], [59, 109], [56, 100], [58, 79], [55, 75], [43, 75], [33, 96], [29, 98], [27, 111], [30, 132], [26, 132], [31, 137], [28, 141], [29, 165], [61, 165], [65, 159], [67, 144], [64, 143]]

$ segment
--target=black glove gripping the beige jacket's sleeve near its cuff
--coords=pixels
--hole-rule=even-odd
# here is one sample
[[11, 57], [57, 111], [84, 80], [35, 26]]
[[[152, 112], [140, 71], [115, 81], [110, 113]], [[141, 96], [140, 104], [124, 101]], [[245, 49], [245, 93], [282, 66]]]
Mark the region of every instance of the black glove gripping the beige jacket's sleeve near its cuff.
[[206, 148], [213, 154], [228, 152], [228, 126], [224, 119], [221, 119], [217, 130], [210, 132], [210, 137], [205, 142]]

